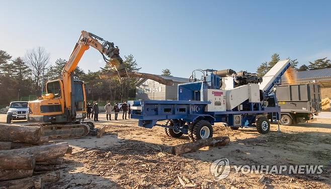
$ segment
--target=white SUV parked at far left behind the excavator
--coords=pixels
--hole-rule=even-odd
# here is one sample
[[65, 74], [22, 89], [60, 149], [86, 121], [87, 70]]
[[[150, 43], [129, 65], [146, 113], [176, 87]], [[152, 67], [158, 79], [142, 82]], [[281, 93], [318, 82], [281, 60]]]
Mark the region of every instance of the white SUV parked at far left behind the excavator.
[[28, 102], [26, 101], [11, 102], [7, 112], [7, 123], [11, 123], [12, 120], [26, 119], [28, 109]]

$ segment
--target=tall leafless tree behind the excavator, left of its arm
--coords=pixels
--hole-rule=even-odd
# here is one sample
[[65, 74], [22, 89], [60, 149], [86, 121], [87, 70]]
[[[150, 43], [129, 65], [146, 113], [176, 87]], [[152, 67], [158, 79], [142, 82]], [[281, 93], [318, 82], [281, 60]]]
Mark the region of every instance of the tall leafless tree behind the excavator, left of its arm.
[[25, 55], [25, 62], [32, 70], [37, 95], [40, 95], [43, 92], [44, 74], [48, 61], [49, 53], [47, 53], [43, 47], [37, 47], [29, 50]]

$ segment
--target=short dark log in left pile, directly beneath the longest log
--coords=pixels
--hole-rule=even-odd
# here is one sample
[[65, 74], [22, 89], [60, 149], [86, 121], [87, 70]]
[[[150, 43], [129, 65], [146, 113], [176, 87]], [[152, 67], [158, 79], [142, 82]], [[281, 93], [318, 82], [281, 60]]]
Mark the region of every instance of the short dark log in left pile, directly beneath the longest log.
[[0, 169], [34, 169], [36, 158], [33, 154], [0, 154]]

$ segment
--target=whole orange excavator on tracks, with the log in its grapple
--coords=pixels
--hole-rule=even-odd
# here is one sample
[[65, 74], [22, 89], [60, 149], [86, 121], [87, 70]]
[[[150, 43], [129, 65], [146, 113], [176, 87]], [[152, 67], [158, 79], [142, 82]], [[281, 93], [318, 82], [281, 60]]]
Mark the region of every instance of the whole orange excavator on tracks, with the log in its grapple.
[[156, 75], [127, 72], [119, 55], [119, 48], [115, 47], [114, 43], [105, 41], [92, 33], [81, 31], [78, 42], [63, 67], [62, 79], [48, 81], [46, 94], [28, 103], [27, 120], [42, 123], [44, 136], [76, 138], [85, 136], [94, 129], [93, 122], [83, 121], [87, 116], [85, 84], [74, 80], [74, 69], [90, 47], [97, 49], [106, 64], [115, 70], [103, 77], [118, 76], [120, 79], [121, 77], [144, 77], [172, 85], [171, 80], [164, 80]]

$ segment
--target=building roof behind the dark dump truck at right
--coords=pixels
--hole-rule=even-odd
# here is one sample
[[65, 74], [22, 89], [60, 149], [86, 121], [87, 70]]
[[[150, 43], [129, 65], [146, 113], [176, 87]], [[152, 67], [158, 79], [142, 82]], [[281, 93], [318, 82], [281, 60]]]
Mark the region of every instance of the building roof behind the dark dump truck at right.
[[[296, 83], [317, 82], [328, 87], [331, 85], [331, 68], [296, 72], [296, 80]], [[285, 75], [282, 76], [282, 84], [287, 84]]]

